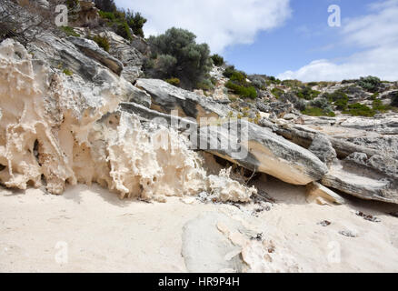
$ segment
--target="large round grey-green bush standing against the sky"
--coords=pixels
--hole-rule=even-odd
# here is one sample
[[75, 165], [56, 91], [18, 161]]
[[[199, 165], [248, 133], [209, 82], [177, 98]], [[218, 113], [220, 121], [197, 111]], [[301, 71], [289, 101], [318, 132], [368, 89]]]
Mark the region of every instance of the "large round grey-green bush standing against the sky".
[[[210, 70], [210, 49], [206, 44], [196, 44], [196, 36], [181, 28], [171, 28], [164, 35], [150, 36], [149, 44], [159, 58], [160, 55], [170, 55], [175, 59], [166, 77], [178, 77], [184, 88], [191, 89], [204, 80]], [[160, 70], [159, 70], [160, 69]], [[153, 77], [158, 76], [161, 68], [147, 72]]]

